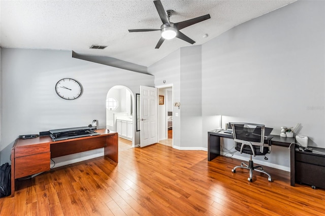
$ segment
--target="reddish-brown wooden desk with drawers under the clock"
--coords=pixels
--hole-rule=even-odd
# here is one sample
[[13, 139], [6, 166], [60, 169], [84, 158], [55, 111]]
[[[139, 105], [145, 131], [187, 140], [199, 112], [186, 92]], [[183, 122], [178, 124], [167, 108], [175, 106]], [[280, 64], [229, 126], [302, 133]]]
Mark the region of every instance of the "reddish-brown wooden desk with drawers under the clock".
[[104, 148], [104, 156], [118, 162], [118, 134], [99, 129], [100, 135], [52, 141], [50, 136], [16, 139], [11, 149], [11, 196], [17, 178], [50, 170], [51, 158]]

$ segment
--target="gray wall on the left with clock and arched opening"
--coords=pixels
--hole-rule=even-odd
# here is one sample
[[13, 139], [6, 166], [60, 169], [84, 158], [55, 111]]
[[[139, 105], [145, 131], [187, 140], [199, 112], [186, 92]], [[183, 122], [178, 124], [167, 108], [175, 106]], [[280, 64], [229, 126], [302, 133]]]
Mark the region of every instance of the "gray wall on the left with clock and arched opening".
[[[98, 128], [106, 128], [111, 87], [126, 86], [135, 96], [140, 85], [154, 85], [153, 76], [72, 58], [69, 51], [2, 48], [1, 62], [2, 163], [9, 162], [20, 134], [87, 126], [94, 119]], [[75, 100], [59, 98], [54, 86], [61, 78], [79, 81], [82, 95]]]

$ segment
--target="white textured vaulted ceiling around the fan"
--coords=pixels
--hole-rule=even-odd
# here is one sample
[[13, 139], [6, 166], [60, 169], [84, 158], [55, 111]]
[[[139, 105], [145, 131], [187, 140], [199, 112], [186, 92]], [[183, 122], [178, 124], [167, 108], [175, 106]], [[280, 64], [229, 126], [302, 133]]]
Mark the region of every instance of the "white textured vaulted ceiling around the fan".
[[[160, 28], [153, 1], [4, 1], [1, 7], [0, 45], [7, 48], [73, 50], [78, 54], [108, 56], [149, 66], [185, 46], [204, 44], [224, 31], [276, 10], [295, 0], [281, 1], [181, 1], [161, 0], [174, 10], [171, 22], [210, 14], [211, 19], [181, 30], [196, 41], [166, 40], [154, 49], [160, 31], [128, 29]], [[209, 37], [203, 38], [207, 33]], [[104, 50], [91, 45], [108, 46]]]

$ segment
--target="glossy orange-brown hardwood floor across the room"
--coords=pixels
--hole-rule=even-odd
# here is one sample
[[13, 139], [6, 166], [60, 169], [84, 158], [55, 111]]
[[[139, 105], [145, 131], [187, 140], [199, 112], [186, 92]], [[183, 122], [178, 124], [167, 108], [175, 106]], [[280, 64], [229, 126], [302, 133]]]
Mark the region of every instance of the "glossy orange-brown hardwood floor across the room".
[[1, 215], [325, 215], [325, 190], [290, 186], [289, 172], [264, 167], [274, 182], [232, 173], [239, 160], [119, 140], [119, 163], [99, 157], [18, 183]]

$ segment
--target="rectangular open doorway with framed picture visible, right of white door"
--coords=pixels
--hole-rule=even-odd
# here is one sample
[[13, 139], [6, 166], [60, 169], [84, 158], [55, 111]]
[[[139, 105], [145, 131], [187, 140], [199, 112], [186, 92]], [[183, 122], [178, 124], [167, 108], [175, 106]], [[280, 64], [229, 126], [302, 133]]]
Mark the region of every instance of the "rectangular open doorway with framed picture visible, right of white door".
[[173, 86], [158, 87], [158, 143], [173, 147]]

